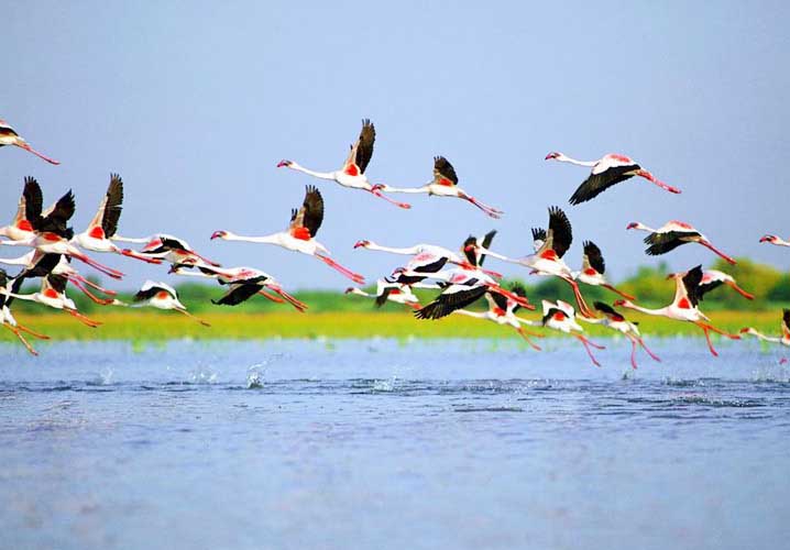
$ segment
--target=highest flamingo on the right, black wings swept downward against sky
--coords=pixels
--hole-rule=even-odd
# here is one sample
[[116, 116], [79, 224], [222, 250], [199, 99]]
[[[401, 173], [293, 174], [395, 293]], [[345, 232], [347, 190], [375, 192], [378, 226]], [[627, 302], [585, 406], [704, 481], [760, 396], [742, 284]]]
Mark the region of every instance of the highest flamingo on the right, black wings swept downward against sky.
[[625, 155], [610, 153], [597, 161], [577, 161], [562, 153], [549, 153], [546, 155], [546, 161], [551, 160], [592, 168], [590, 177], [588, 177], [571, 196], [569, 200], [571, 205], [579, 205], [593, 199], [613, 185], [625, 182], [634, 176], [643, 177], [669, 193], [680, 193], [680, 189], [657, 179], [656, 176]]

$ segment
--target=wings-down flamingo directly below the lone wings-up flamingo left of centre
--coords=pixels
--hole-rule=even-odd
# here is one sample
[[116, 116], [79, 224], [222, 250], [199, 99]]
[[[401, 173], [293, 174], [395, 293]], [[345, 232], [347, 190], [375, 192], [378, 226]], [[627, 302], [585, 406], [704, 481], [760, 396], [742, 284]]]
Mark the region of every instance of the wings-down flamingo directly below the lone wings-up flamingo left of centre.
[[[186, 271], [188, 267], [197, 267], [198, 271]], [[171, 273], [190, 277], [215, 278], [220, 285], [228, 285], [228, 292], [220, 299], [211, 300], [216, 305], [235, 306], [259, 294], [277, 304], [288, 301], [288, 304], [294, 306], [299, 312], [304, 312], [307, 309], [307, 304], [297, 300], [292, 295], [286, 293], [274, 277], [261, 270], [255, 270], [254, 267], [220, 268], [188, 262], [186, 264], [174, 265], [171, 268]], [[268, 294], [264, 290], [264, 288], [268, 288], [277, 293], [282, 298]]]

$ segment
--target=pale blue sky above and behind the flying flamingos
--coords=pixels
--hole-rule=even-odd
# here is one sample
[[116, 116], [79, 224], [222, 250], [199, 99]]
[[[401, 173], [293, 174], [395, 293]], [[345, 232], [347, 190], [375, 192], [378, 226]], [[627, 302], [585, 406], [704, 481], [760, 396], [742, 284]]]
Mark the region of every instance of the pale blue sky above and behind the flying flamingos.
[[[683, 220], [731, 255], [790, 270], [788, 249], [758, 243], [790, 237], [787, 2], [41, 1], [2, 12], [0, 118], [63, 164], [0, 148], [0, 223], [31, 175], [46, 204], [74, 190], [81, 231], [119, 173], [119, 233], [175, 234], [286, 288], [342, 289], [350, 280], [315, 258], [209, 240], [285, 229], [315, 184], [318, 240], [371, 282], [405, 260], [353, 250], [360, 239], [457, 249], [496, 229], [492, 249], [520, 256], [553, 205], [573, 224], [569, 265], [592, 240], [615, 280], [716, 257], [696, 245], [646, 256], [630, 221]], [[373, 182], [423, 185], [445, 155], [503, 219], [425, 195], [394, 196], [413, 204], [401, 210], [275, 167], [340, 168], [363, 118], [376, 127]], [[544, 161], [551, 151], [626, 154], [683, 193], [634, 178], [570, 206], [588, 169]], [[179, 282], [166, 267], [99, 260], [128, 274], [120, 288]]]

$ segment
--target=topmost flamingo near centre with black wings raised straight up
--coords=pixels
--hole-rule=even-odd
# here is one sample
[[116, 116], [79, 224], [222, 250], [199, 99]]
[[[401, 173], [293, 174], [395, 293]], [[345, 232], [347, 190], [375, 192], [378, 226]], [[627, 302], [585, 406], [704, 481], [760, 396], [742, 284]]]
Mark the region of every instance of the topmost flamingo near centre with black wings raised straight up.
[[334, 172], [315, 172], [296, 164], [294, 161], [281, 161], [277, 164], [277, 168], [286, 167], [293, 170], [304, 172], [305, 174], [320, 179], [331, 179], [343, 187], [367, 191], [399, 208], [412, 208], [412, 205], [398, 202], [383, 195], [382, 189], [385, 186], [373, 185], [367, 179], [367, 176], [365, 176], [365, 168], [367, 168], [367, 163], [371, 162], [371, 156], [373, 156], [373, 143], [375, 140], [376, 129], [370, 120], [364, 119], [362, 121], [360, 138], [353, 145], [351, 145], [349, 157], [345, 160], [345, 163], [343, 163], [343, 167], [341, 169]]

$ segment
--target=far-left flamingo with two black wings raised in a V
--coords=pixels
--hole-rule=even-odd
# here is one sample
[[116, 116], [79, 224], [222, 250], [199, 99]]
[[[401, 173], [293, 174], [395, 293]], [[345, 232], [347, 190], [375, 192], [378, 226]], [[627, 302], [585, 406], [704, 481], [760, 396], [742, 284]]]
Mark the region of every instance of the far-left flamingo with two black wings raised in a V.
[[[35, 182], [33, 180], [33, 183]], [[37, 184], [35, 184], [31, 188], [34, 189], [37, 187]], [[25, 185], [25, 191], [26, 190], [28, 185]], [[33, 235], [22, 241], [0, 241], [0, 244], [7, 246], [32, 246], [45, 254], [66, 254], [76, 257], [109, 277], [120, 279], [123, 276], [123, 273], [118, 270], [100, 264], [96, 260], [83, 254], [79, 249], [69, 242], [74, 237], [74, 230], [68, 227], [68, 220], [74, 216], [76, 208], [74, 194], [70, 190], [63, 195], [55, 205], [43, 213], [41, 212], [40, 197], [41, 194], [39, 193], [35, 199], [34, 195], [29, 195], [25, 198], [25, 208], [29, 212], [32, 212], [31, 216], [33, 216], [33, 218], [29, 220], [33, 228]]]

